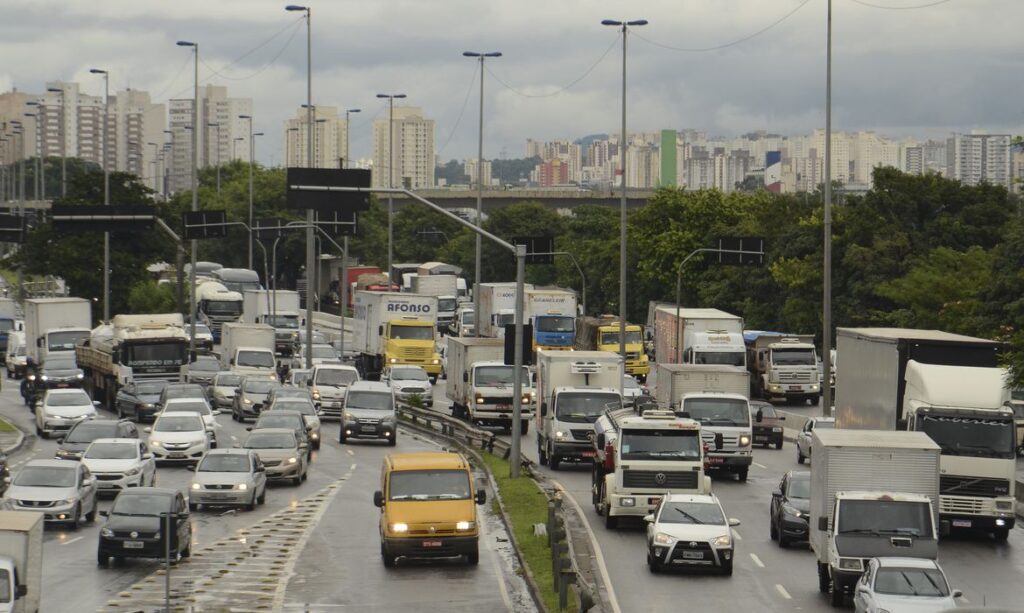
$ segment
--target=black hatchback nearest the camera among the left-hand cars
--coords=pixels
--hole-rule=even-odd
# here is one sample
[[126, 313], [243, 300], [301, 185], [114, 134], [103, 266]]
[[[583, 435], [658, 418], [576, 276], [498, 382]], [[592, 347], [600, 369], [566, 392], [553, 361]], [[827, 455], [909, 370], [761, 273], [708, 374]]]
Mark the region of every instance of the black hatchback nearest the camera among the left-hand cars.
[[[167, 515], [173, 517], [168, 520]], [[163, 559], [165, 535], [170, 536], [172, 560], [191, 556], [191, 521], [184, 496], [176, 489], [165, 487], [132, 487], [121, 490], [110, 512], [103, 512], [106, 523], [99, 529], [96, 562], [106, 566], [125, 558]], [[170, 523], [170, 530], [166, 526]]]

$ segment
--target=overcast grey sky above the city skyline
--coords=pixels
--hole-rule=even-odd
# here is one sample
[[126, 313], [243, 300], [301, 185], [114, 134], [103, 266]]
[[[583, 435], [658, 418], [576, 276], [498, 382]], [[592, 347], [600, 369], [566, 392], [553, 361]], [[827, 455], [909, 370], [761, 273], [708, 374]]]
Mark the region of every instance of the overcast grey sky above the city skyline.
[[[836, 129], [923, 137], [1024, 132], [1024, 1], [947, 0], [901, 10], [892, 8], [936, 0], [833, 1]], [[105, 68], [112, 90], [146, 90], [155, 101], [189, 97], [190, 55], [174, 43], [196, 41], [201, 83], [253, 98], [255, 127], [267, 133], [258, 158], [281, 164], [283, 122], [306, 96], [304, 21], [285, 4], [8, 5], [0, 19], [0, 91], [38, 92], [46, 81], [66, 79], [101, 93], [101, 81], [88, 70]], [[436, 120], [442, 160], [476, 156], [479, 76], [464, 50], [504, 53], [487, 60], [485, 157], [522, 157], [526, 138], [617, 132], [622, 44], [602, 18], [650, 21], [629, 38], [631, 132], [801, 134], [824, 124], [826, 0], [314, 0], [311, 6], [313, 102], [362, 108], [352, 122], [359, 158], [371, 155], [370, 123], [384, 108], [379, 92], [406, 93], [407, 103]], [[729, 46], [668, 48], [723, 45]]]

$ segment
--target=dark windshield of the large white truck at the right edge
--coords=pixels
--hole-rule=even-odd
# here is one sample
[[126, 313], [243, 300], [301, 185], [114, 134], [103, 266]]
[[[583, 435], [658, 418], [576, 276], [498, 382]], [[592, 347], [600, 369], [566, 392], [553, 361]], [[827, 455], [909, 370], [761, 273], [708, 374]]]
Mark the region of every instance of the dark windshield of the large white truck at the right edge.
[[1009, 417], [1005, 420], [983, 420], [926, 414], [918, 427], [942, 447], [943, 455], [1015, 457], [1016, 424]]

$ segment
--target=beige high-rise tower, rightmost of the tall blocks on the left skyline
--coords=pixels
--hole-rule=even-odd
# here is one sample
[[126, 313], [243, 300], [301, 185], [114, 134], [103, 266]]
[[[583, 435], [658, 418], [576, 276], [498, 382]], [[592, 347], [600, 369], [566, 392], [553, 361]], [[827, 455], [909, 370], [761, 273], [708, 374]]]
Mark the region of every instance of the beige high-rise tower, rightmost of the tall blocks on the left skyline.
[[[388, 112], [374, 121], [375, 187], [387, 187], [388, 177], [395, 187], [422, 189], [434, 185], [434, 120], [423, 117], [418, 106], [395, 106], [393, 125], [388, 129]], [[390, 141], [388, 133], [391, 134]], [[394, 151], [394, 168], [389, 175]]]

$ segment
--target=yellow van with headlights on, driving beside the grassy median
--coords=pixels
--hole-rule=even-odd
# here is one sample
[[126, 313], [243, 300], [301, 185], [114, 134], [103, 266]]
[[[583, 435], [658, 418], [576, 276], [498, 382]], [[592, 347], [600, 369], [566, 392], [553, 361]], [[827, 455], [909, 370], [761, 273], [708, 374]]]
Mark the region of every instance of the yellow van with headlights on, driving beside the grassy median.
[[476, 565], [480, 530], [473, 503], [486, 501], [487, 493], [474, 488], [461, 453], [389, 454], [381, 469], [381, 489], [374, 492], [374, 505], [381, 510], [384, 566], [394, 566], [399, 557], [456, 556]]

